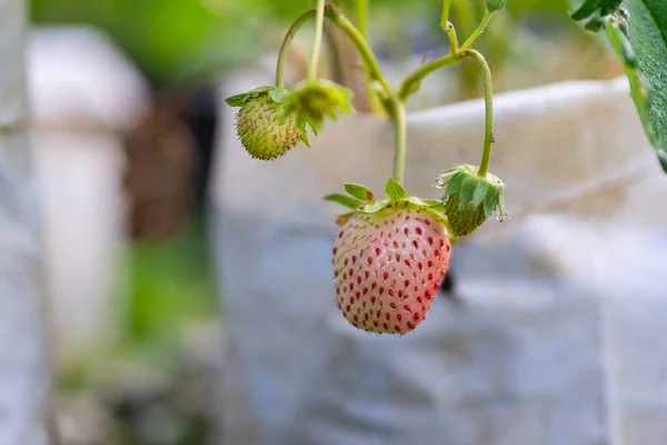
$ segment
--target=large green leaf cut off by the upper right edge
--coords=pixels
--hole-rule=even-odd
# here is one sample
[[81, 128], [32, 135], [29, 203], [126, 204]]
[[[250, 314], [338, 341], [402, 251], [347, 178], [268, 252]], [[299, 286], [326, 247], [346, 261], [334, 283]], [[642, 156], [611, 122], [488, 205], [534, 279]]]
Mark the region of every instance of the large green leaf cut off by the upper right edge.
[[[630, 79], [633, 98], [646, 134], [667, 172], [667, 2], [626, 0], [630, 16], [630, 42], [637, 68], [646, 81], [648, 100], [635, 99], [641, 87]], [[645, 108], [647, 105], [647, 108]]]

